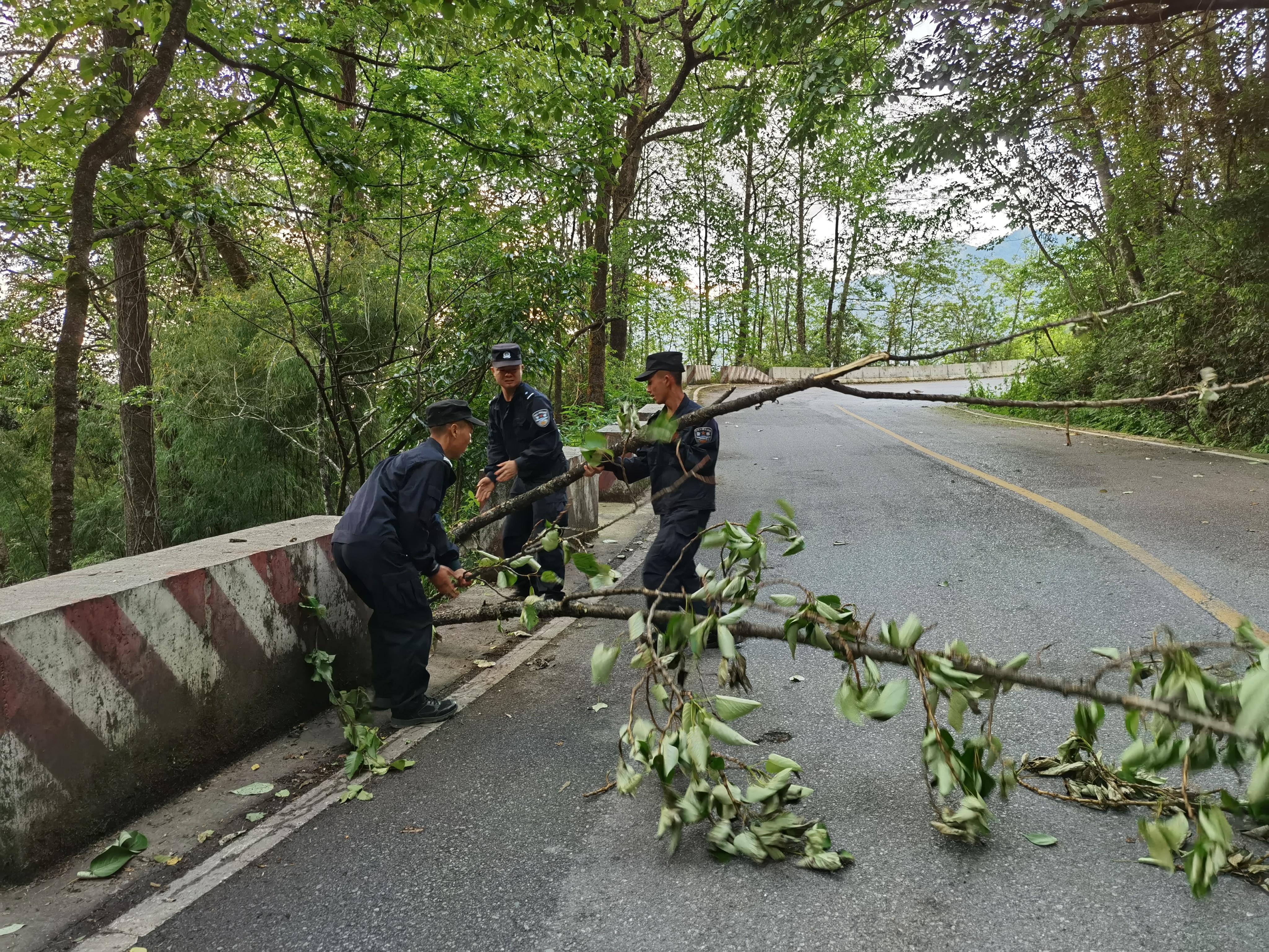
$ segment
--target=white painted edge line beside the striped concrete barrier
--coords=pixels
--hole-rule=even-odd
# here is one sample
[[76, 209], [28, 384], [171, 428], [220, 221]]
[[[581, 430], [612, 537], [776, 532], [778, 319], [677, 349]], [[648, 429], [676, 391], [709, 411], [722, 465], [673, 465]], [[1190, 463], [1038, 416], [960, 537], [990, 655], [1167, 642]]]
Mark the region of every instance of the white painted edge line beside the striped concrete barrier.
[[[636, 514], [637, 510], [631, 515]], [[636, 536], [638, 534], [636, 533]], [[633, 539], [636, 536], [631, 538]], [[617, 569], [618, 580], [626, 578], [633, 567], [633, 564], [627, 561], [627, 565]], [[495, 666], [486, 668], [449, 697], [458, 702], [459, 711], [468, 707], [490, 688], [546, 647], [575, 621], [577, 619], [552, 618], [544, 622], [530, 637], [497, 659]], [[383, 745], [381, 753], [388, 760], [395, 760], [443, 724], [445, 721], [442, 724], [421, 724], [418, 727], [402, 727]], [[195, 900], [220, 886], [239, 869], [245, 868], [249, 863], [268, 853], [301, 826], [315, 820], [329, 806], [339, 802], [339, 795], [346, 786], [348, 781], [343, 773], [327, 777], [313, 787], [307, 796], [288, 803], [266, 820], [261, 820], [241, 836], [226, 844], [218, 853], [208, 857], [179, 880], [175, 880], [166, 892], [160, 892], [142, 900], [108, 925], [77, 943], [75, 952], [128, 952], [142, 937], [148, 935]]]

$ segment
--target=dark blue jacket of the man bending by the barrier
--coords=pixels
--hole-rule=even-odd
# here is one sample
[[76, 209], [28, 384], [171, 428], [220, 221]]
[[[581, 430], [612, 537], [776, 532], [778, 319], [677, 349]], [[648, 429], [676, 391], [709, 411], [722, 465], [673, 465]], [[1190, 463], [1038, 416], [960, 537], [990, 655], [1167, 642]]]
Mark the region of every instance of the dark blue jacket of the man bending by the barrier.
[[374, 542], [387, 553], [398, 548], [423, 575], [435, 575], [442, 565], [457, 570], [458, 547], [439, 515], [453, 481], [454, 467], [434, 439], [390, 456], [357, 490], [331, 542]]

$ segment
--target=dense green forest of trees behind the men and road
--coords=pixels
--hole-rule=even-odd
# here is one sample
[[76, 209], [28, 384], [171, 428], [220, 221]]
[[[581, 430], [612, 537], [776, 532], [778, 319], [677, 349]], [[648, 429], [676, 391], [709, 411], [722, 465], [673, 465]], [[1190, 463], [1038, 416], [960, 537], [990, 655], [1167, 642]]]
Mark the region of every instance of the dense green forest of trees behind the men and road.
[[[505, 339], [570, 437], [650, 350], [835, 366], [1174, 291], [970, 357], [1022, 397], [1261, 374], [1260, 5], [6, 3], [0, 584], [339, 513]], [[1203, 409], [1074, 416], [1269, 452], [1264, 388]]]

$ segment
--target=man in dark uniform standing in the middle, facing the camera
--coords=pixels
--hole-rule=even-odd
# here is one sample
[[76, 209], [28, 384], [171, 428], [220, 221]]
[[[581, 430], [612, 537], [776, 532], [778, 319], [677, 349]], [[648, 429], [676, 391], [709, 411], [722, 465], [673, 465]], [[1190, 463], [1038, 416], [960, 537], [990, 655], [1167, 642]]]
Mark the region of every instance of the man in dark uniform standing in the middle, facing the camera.
[[[494, 493], [495, 481], [514, 480], [511, 495], [518, 496], [567, 470], [551, 401], [522, 380], [520, 345], [495, 344], [491, 363], [494, 380], [503, 392], [489, 401], [489, 466], [476, 484], [476, 499], [481, 505]], [[503, 523], [503, 555], [515, 559], [546, 522], [567, 526], [567, 505], [569, 494], [560, 490], [508, 515]], [[563, 547], [538, 552], [534, 559], [543, 571], [555, 572], [555, 580], [543, 581], [541, 575], [524, 567], [516, 578], [516, 590], [523, 597], [537, 589], [539, 595], [558, 599], [563, 594]]]

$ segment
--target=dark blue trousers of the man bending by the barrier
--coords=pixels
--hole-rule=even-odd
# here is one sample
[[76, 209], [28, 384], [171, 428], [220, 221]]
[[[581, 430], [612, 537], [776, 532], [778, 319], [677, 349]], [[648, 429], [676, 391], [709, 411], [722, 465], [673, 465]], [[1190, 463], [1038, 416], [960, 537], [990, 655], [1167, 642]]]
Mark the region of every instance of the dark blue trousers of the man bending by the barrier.
[[393, 717], [416, 717], [431, 680], [431, 605], [419, 570], [395, 546], [334, 542], [331, 553], [353, 592], [373, 611], [374, 696], [388, 698]]

